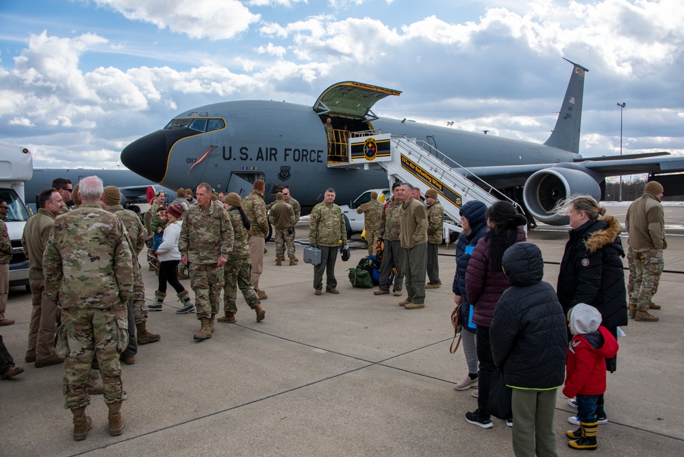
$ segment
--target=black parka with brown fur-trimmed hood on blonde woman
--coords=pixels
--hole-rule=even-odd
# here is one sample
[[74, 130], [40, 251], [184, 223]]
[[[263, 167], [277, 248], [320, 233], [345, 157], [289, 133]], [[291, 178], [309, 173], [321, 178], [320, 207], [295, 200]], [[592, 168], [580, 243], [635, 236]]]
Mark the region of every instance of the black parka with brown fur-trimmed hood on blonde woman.
[[613, 335], [618, 325], [627, 325], [621, 231], [612, 216], [570, 230], [556, 287], [563, 312], [578, 303], [594, 306], [601, 313], [601, 325]]

